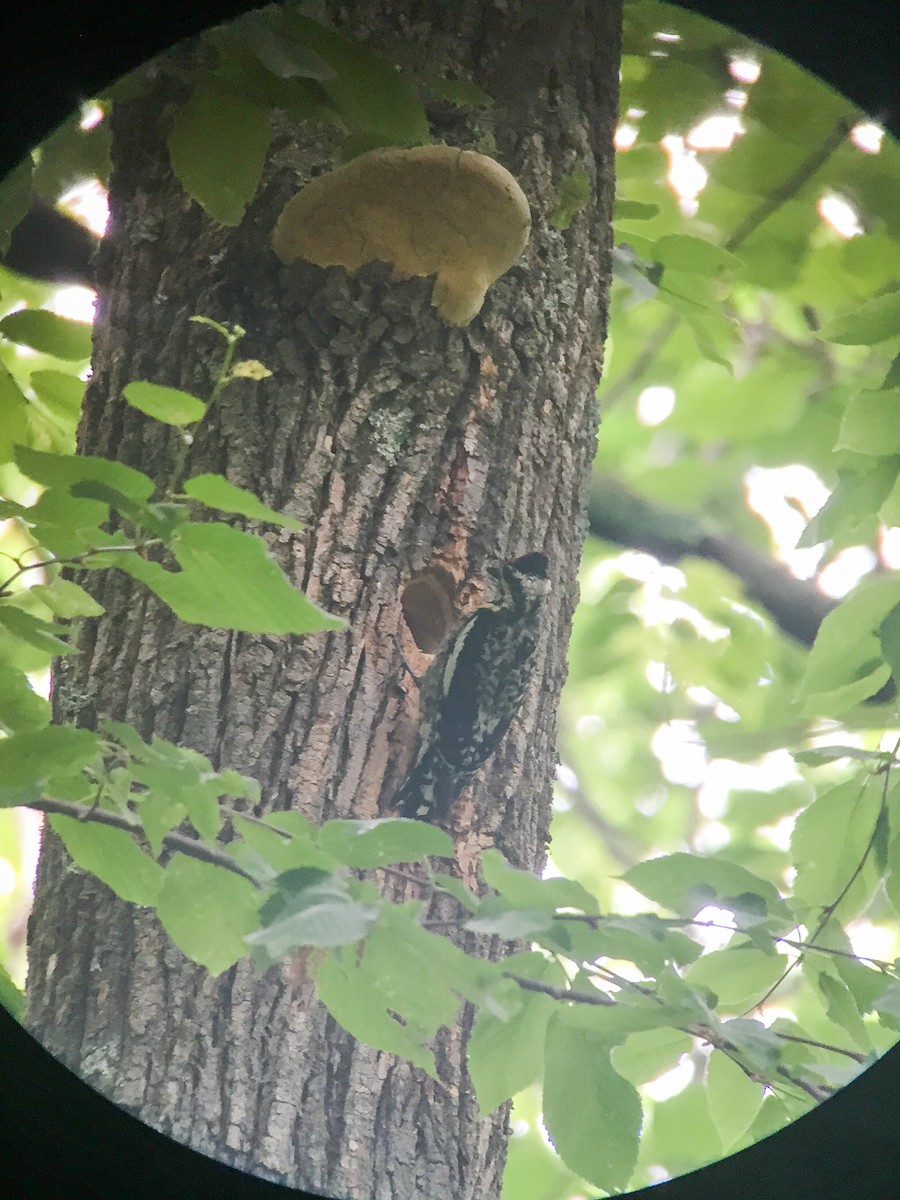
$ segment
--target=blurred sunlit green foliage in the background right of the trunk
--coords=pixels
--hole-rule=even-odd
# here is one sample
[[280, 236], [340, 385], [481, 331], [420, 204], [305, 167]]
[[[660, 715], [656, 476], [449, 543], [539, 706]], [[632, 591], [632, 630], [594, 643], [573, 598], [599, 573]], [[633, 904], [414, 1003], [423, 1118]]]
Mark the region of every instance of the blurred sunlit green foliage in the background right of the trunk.
[[[758, 78], [739, 83], [730, 73], [736, 61], [758, 66]], [[857, 796], [860, 776], [877, 769], [862, 756], [898, 726], [893, 702], [865, 702], [894, 668], [893, 630], [886, 638], [884, 628], [900, 599], [900, 584], [883, 576], [896, 557], [895, 548], [887, 557], [886, 526], [900, 523], [887, 503], [900, 425], [892, 373], [900, 348], [900, 148], [884, 138], [880, 152], [864, 151], [848, 133], [865, 118], [840, 96], [774, 52], [654, 0], [625, 5], [620, 110], [630, 144], [617, 158], [619, 269], [598, 390], [598, 473], [773, 558], [790, 557], [809, 523], [800, 545], [812, 550], [811, 581], [841, 552], [865, 547], [865, 570], [881, 572], [882, 593], [866, 600], [863, 586], [859, 600], [858, 587], [846, 616], [841, 605], [826, 619], [810, 655], [718, 563], [664, 565], [589, 535], [560, 713], [552, 863], [594, 893], [601, 911], [642, 911], [646, 901], [619, 882], [632, 864], [713, 853], [772, 880], [798, 907], [806, 898], [808, 934], [864, 863], [838, 918], [856, 929], [860, 948], [874, 926], [882, 949], [870, 953], [889, 965], [900, 953], [899, 910], [882, 881], [898, 864], [887, 875], [872, 864], [880, 793], [865, 790], [866, 811]], [[691, 150], [703, 122], [721, 116], [744, 132], [730, 148]], [[683, 139], [674, 146], [673, 134]], [[677, 157], [706, 173], [694, 202], [667, 179]], [[822, 218], [818, 205], [829, 197], [851, 205], [856, 235]], [[643, 416], [642, 397], [654, 388], [671, 389], [662, 419]], [[763, 476], [769, 524], [750, 506], [750, 473], [797, 466], [805, 472]], [[850, 562], [846, 572], [842, 588], [856, 578]], [[859, 652], [848, 653], [854, 642]], [[812, 677], [810, 661], [821, 664]], [[823, 744], [856, 748], [862, 762], [790, 754]], [[844, 943], [827, 944], [850, 949], [841, 936]], [[712, 968], [714, 954], [701, 962]], [[827, 973], [841, 961], [806, 958]], [[865, 972], [863, 983], [881, 978], [848, 961]], [[752, 977], [742, 982], [733, 970], [740, 1012], [768, 984], [754, 994]], [[862, 992], [850, 1000], [836, 978], [823, 990], [811, 970], [804, 965], [805, 982], [790, 974], [768, 1001], [786, 1030], [880, 1051], [893, 1043], [893, 1018], [880, 1025]], [[727, 991], [714, 990], [725, 1001]], [[680, 1052], [660, 1060], [659, 1073]], [[632, 1187], [748, 1145], [805, 1109], [790, 1088], [751, 1094], [730, 1060], [713, 1051], [704, 1064], [707, 1056], [696, 1043], [685, 1060], [691, 1069], [673, 1086], [694, 1084], [646, 1100]], [[822, 1079], [859, 1069], [848, 1058], [817, 1057]], [[736, 1090], [746, 1098], [734, 1099]], [[726, 1096], [734, 1111], [724, 1116]], [[522, 1172], [541, 1159], [539, 1103], [536, 1093], [517, 1102], [530, 1138], [522, 1132], [511, 1142], [510, 1196], [523, 1194]], [[577, 1192], [558, 1180], [541, 1195]]]

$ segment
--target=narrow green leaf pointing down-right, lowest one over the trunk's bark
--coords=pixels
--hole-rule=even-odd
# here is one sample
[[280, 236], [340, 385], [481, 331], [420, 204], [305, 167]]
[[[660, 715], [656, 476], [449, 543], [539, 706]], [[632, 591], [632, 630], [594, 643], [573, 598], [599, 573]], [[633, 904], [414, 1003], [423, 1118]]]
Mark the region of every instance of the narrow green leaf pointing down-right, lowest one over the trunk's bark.
[[352, 947], [325, 959], [316, 976], [316, 991], [337, 1024], [359, 1042], [406, 1058], [437, 1079], [431, 1050], [389, 1015], [384, 998], [356, 961]]

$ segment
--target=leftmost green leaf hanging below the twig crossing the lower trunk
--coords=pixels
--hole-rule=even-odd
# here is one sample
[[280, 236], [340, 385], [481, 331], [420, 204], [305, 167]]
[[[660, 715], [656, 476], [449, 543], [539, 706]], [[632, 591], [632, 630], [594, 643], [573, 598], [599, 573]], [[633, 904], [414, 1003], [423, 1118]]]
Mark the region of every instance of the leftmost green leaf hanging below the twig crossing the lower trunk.
[[73, 817], [59, 814], [54, 814], [49, 820], [54, 833], [62, 839], [70, 856], [82, 870], [96, 875], [130, 904], [145, 907], [156, 904], [163, 870], [155, 859], [140, 850], [130, 833], [97, 822], [76, 821]]

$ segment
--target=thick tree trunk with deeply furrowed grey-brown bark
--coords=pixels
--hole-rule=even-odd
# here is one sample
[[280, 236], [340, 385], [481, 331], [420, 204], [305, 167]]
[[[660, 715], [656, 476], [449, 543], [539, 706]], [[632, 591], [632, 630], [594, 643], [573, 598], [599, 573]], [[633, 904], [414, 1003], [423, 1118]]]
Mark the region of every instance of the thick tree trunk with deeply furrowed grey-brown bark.
[[[283, 268], [272, 253], [281, 206], [335, 163], [330, 131], [281, 125], [257, 199], [230, 229], [172, 175], [166, 134], [184, 98], [172, 59], [148, 92], [119, 103], [79, 449], [166, 479], [174, 439], [121, 390], [144, 378], [208, 395], [220, 348], [188, 318], [239, 323], [241, 356], [272, 377], [226, 389], [188, 473], [221, 472], [301, 517], [305, 533], [272, 536], [272, 553], [349, 628], [305, 638], [198, 629], [124, 575], [92, 572], [84, 582], [106, 616], [60, 666], [54, 703], [60, 719], [127, 720], [254, 775], [266, 811], [385, 815], [415, 740], [402, 655], [416, 671], [428, 661], [404, 624], [404, 583], [440, 565], [464, 608], [487, 563], [545, 548], [553, 593], [535, 683], [451, 817], [458, 872], [474, 884], [487, 846], [530, 870], [545, 856], [606, 322], [618, 6], [575, 2], [551, 19], [533, 0], [328, 7], [386, 58], [456, 72], [497, 97], [490, 109], [438, 104], [428, 115], [438, 140], [493, 139], [530, 202], [530, 244], [479, 317], [449, 328], [431, 306], [432, 280], [392, 282], [379, 264], [355, 277]], [[560, 232], [547, 214], [578, 167], [590, 200]], [[436, 1084], [336, 1026], [302, 962], [210, 977], [152, 913], [76, 870], [53, 835], [28, 991], [28, 1026], [54, 1055], [205, 1154], [354, 1200], [499, 1195], [508, 1112], [479, 1116], [466, 1010], [438, 1038]]]

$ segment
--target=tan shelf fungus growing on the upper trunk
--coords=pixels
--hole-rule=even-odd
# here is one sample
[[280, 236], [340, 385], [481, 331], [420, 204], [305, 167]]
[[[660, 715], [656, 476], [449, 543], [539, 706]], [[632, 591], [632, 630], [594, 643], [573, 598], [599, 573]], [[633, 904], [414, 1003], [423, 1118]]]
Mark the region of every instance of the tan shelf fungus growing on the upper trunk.
[[516, 262], [532, 228], [524, 192], [493, 158], [445, 145], [371, 150], [307, 184], [272, 234], [298, 258], [353, 274], [389, 263], [394, 278], [437, 276], [432, 304], [467, 325]]

